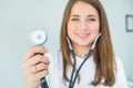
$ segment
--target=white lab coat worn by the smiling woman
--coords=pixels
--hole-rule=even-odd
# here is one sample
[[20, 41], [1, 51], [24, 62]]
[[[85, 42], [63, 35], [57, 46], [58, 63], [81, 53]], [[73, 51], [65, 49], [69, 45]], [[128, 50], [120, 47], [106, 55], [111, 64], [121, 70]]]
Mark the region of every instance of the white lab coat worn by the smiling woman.
[[[54, 52], [52, 54], [45, 54], [45, 56], [50, 59], [50, 66], [49, 66], [49, 75], [47, 76], [47, 81], [49, 85], [49, 88], [68, 88], [69, 82], [64, 81], [62, 79], [62, 72], [63, 72], [63, 64], [62, 64], [62, 55], [61, 52]], [[76, 57], [76, 66], [81, 64], [83, 59], [80, 57]], [[123, 69], [122, 62], [116, 58], [116, 67], [117, 73], [115, 75], [116, 81], [114, 86], [112, 87], [105, 87], [102, 84], [94, 87], [91, 84], [91, 81], [94, 79], [95, 75], [95, 65], [93, 62], [93, 57], [91, 56], [85, 64], [82, 66], [80, 70], [80, 84], [75, 81], [74, 88], [127, 88], [126, 78]], [[69, 69], [68, 77], [71, 76], [72, 68]]]

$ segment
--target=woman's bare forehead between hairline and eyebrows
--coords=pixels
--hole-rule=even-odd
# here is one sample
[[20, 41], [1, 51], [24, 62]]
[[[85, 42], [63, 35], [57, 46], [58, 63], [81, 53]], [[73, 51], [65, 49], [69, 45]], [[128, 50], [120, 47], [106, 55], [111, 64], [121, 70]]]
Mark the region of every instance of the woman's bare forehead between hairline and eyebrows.
[[71, 14], [98, 14], [98, 11], [95, 8], [93, 8], [91, 4], [83, 2], [83, 1], [78, 1], [73, 4], [71, 8]]

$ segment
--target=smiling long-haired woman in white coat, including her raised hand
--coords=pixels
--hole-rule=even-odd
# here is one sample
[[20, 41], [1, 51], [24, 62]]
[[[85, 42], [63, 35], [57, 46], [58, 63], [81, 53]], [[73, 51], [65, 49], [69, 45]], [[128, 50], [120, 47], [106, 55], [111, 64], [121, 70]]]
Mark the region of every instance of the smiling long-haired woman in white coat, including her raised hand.
[[[96, 45], [91, 50], [95, 38]], [[42, 77], [47, 77], [49, 88], [127, 88], [99, 0], [69, 0], [60, 43], [60, 51], [51, 54], [41, 46], [30, 48], [23, 58], [25, 88], [39, 88]]]

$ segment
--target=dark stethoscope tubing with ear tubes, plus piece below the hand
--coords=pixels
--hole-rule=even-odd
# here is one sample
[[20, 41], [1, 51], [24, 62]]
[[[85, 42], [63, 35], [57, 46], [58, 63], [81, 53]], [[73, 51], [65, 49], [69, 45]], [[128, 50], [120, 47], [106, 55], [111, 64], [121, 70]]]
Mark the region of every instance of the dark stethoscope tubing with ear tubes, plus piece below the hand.
[[[76, 80], [76, 78], [78, 78], [79, 72], [80, 72], [80, 69], [82, 68], [82, 66], [84, 65], [84, 63], [86, 62], [86, 59], [91, 56], [91, 54], [92, 54], [92, 52], [93, 52], [93, 50], [94, 50], [94, 47], [95, 47], [95, 44], [96, 44], [99, 37], [101, 36], [101, 34], [102, 34], [102, 33], [100, 32], [99, 35], [96, 36], [96, 38], [95, 38], [92, 47], [91, 47], [90, 51], [89, 51], [88, 56], [85, 57], [85, 59], [81, 63], [80, 67], [78, 68], [76, 73], [75, 73], [75, 76], [74, 76], [75, 63], [76, 63], [76, 61], [75, 61], [75, 54], [74, 54], [74, 51], [72, 50], [72, 46], [71, 46], [71, 43], [70, 43], [69, 38], [66, 37], [68, 43], [69, 43], [69, 45], [70, 45], [71, 54], [72, 54], [72, 56], [73, 56], [73, 58], [74, 58], [74, 64], [73, 64], [73, 69], [72, 69], [72, 74], [71, 74], [71, 79], [70, 79], [69, 88], [73, 88], [73, 87], [74, 87], [74, 84], [75, 84], [75, 80]], [[73, 78], [73, 77], [74, 77], [74, 78]], [[45, 77], [41, 78], [41, 88], [49, 88]]]

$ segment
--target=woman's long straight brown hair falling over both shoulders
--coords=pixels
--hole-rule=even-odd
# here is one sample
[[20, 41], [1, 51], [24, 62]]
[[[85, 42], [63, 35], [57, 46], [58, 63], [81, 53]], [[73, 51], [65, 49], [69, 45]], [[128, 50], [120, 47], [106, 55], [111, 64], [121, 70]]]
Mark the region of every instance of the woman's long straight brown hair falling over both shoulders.
[[100, 18], [100, 32], [102, 32], [101, 37], [93, 51], [93, 58], [95, 63], [95, 76], [92, 81], [93, 86], [98, 86], [102, 79], [104, 79], [104, 86], [113, 86], [115, 84], [115, 75], [114, 75], [114, 53], [111, 43], [110, 29], [108, 24], [108, 19], [105, 11], [99, 0], [69, 0], [66, 8], [63, 14], [63, 21], [60, 33], [60, 48], [63, 57], [63, 78], [69, 81], [66, 76], [66, 67], [72, 66], [72, 62], [70, 58], [70, 50], [66, 41], [68, 36], [68, 20], [70, 18], [70, 12], [74, 3], [78, 1], [83, 1], [85, 3], [91, 4], [99, 13]]

